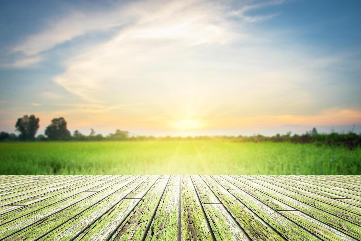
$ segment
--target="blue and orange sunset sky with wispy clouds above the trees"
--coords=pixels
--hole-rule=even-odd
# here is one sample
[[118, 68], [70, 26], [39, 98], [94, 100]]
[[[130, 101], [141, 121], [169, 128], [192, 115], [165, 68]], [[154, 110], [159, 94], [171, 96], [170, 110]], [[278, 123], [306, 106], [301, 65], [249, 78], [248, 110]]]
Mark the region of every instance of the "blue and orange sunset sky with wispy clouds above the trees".
[[359, 0], [4, 0], [0, 131], [361, 132]]

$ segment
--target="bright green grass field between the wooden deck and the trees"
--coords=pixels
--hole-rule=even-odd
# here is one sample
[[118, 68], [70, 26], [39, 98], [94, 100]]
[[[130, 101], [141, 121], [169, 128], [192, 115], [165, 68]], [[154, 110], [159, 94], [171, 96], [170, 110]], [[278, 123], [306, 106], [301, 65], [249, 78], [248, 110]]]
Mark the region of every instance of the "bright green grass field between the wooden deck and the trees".
[[1, 143], [0, 164], [2, 175], [360, 175], [361, 149], [271, 142], [25, 142]]

